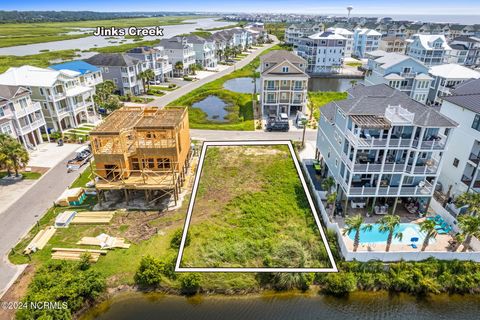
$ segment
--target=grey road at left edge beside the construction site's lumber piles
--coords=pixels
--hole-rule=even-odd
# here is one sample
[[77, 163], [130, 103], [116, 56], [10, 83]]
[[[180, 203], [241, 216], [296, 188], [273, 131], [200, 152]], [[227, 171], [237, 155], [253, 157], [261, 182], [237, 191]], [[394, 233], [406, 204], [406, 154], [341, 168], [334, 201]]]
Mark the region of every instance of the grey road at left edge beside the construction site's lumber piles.
[[[66, 163], [75, 153], [69, 153], [48, 171], [19, 200], [0, 214], [0, 296], [14, 280], [18, 266], [7, 260], [10, 249], [37, 223], [53, 202], [78, 177], [81, 171], [67, 173]], [[85, 170], [86, 166], [82, 168]]]

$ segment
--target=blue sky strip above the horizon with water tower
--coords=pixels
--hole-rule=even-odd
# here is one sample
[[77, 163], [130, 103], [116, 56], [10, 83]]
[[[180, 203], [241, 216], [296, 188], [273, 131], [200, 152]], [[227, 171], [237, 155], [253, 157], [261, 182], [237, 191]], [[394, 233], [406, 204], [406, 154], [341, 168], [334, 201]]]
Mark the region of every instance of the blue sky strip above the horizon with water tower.
[[[203, 11], [385, 15], [480, 15], [479, 0], [0, 0], [0, 10]], [[479, 18], [480, 22], [480, 18]]]

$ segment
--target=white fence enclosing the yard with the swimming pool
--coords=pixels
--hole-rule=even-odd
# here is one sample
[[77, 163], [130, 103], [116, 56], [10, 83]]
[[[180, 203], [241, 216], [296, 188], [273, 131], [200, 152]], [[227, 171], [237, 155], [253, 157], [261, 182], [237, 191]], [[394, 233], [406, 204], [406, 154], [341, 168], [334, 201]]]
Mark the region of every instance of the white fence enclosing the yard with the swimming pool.
[[[428, 258], [435, 258], [438, 260], [464, 260], [464, 261], [475, 261], [480, 262], [480, 241], [476, 238], [472, 240], [471, 247], [474, 252], [438, 252], [438, 251], [395, 251], [395, 252], [375, 252], [375, 251], [360, 251], [360, 252], [352, 252], [349, 251], [343, 241], [342, 231], [338, 226], [338, 223], [331, 222], [330, 218], [328, 217], [327, 211], [323, 202], [320, 198], [320, 194], [318, 191], [315, 190], [314, 183], [310, 174], [308, 174], [308, 170], [306, 164], [311, 163], [312, 160], [304, 160], [301, 162], [303, 171], [306, 176], [307, 182], [311, 186], [312, 190], [312, 197], [314, 201], [317, 203], [317, 207], [320, 209], [320, 215], [324, 225], [327, 229], [331, 229], [337, 235], [338, 247], [340, 249], [341, 255], [345, 258], [346, 261], [361, 261], [367, 262], [370, 260], [380, 260], [383, 262], [393, 262], [393, 261], [422, 261]], [[447, 221], [448, 224], [452, 225], [454, 232], [458, 231], [458, 226], [456, 223], [456, 219], [450, 215], [450, 213], [443, 208], [435, 199], [432, 198], [430, 203], [431, 208], [437, 213], [442, 216], [442, 218]]]

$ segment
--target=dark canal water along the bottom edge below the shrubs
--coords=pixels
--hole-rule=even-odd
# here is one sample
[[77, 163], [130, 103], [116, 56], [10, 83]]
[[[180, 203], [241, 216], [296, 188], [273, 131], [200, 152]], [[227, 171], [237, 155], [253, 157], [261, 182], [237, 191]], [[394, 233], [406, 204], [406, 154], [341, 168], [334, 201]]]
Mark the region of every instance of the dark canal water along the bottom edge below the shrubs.
[[480, 297], [438, 295], [417, 298], [386, 292], [358, 292], [346, 298], [323, 295], [191, 298], [129, 293], [90, 310], [82, 320], [456, 320], [479, 319]]

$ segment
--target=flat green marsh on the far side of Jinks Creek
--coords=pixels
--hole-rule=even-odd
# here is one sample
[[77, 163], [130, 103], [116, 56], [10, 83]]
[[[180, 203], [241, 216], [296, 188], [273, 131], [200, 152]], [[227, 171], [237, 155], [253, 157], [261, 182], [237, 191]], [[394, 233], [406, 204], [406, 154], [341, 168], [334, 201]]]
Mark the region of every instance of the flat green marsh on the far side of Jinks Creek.
[[41, 23], [6, 23], [0, 24], [0, 47], [11, 47], [32, 43], [43, 43], [67, 39], [88, 37], [90, 32], [84, 34], [67, 34], [77, 28], [119, 27], [130, 26], [149, 27], [166, 26], [185, 23], [185, 20], [199, 19], [199, 16], [168, 16], [153, 18], [125, 18], [112, 20], [91, 20], [73, 22], [41, 22]]

